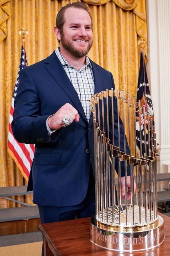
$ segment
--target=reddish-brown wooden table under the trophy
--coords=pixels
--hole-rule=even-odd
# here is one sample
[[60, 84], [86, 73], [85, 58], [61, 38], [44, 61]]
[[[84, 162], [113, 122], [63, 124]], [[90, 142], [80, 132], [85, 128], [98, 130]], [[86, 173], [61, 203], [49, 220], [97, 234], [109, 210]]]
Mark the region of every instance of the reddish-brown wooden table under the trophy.
[[90, 218], [39, 225], [44, 238], [45, 256], [167, 256], [170, 255], [170, 217], [164, 218], [165, 242], [148, 251], [119, 253], [108, 251], [89, 240]]

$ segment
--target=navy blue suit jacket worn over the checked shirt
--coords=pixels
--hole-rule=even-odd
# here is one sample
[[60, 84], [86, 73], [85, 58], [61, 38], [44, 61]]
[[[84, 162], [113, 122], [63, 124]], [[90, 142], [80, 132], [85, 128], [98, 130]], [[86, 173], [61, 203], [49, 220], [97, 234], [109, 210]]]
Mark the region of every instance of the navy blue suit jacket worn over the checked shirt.
[[[112, 74], [90, 62], [95, 93], [114, 88]], [[78, 110], [79, 122], [73, 121], [49, 136], [47, 118], [67, 102]], [[47, 206], [82, 202], [88, 187], [90, 158], [94, 169], [93, 117], [91, 114], [88, 123], [78, 94], [55, 52], [20, 71], [12, 130], [17, 141], [35, 144], [28, 184], [28, 190], [33, 189], [33, 202]], [[86, 149], [90, 152], [86, 153]]]

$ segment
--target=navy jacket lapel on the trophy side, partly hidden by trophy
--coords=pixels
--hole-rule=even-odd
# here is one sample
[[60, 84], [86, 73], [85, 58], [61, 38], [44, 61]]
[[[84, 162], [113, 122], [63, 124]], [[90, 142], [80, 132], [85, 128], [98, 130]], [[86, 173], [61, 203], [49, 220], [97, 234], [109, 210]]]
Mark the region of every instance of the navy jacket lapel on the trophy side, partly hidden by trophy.
[[[93, 75], [94, 75], [94, 81], [95, 81], [95, 94], [100, 93], [103, 90], [102, 86], [102, 75], [101, 75], [101, 70], [99, 70], [98, 65], [90, 60], [91, 65], [92, 65], [92, 70], [93, 70]], [[93, 114], [90, 114], [90, 119], [89, 119], [89, 126], [92, 125], [93, 122]]]

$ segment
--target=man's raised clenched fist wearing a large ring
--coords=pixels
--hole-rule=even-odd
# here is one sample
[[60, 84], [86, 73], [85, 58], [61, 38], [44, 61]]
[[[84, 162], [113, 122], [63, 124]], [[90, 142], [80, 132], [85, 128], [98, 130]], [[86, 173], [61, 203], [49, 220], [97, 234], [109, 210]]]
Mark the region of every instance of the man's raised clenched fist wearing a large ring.
[[79, 122], [79, 114], [77, 109], [75, 109], [71, 104], [64, 104], [54, 115], [50, 116], [48, 119], [48, 126], [52, 129], [60, 129], [61, 127], [66, 127], [62, 124], [64, 116], [68, 116], [71, 119], [71, 123], [74, 121]]

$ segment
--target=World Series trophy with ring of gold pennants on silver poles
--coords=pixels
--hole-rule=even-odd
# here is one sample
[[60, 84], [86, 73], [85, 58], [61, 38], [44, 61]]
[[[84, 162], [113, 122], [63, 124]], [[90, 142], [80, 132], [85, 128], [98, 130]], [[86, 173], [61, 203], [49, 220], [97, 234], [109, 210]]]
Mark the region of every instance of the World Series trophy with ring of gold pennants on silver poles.
[[[135, 96], [130, 98], [129, 92], [124, 94], [118, 89], [102, 91], [89, 101], [94, 117], [96, 184], [96, 215], [91, 218], [90, 241], [119, 252], [144, 251], [159, 246], [165, 240], [163, 218], [157, 214], [156, 158], [159, 154], [149, 112], [145, 113], [145, 106], [141, 106], [140, 101], [136, 103]], [[138, 127], [136, 115], [139, 116]], [[140, 132], [140, 153], [136, 150], [136, 128]], [[118, 145], [115, 145], [115, 129]], [[130, 154], [126, 153], [125, 130], [129, 134]], [[124, 150], [121, 150], [121, 136]], [[134, 155], [131, 155], [133, 151]], [[121, 198], [122, 161], [125, 188], [130, 170], [130, 188], [125, 191], [125, 200]], [[131, 195], [130, 200], [128, 194]]]

